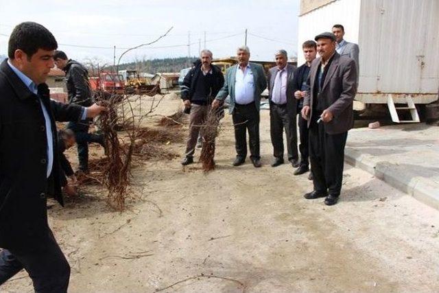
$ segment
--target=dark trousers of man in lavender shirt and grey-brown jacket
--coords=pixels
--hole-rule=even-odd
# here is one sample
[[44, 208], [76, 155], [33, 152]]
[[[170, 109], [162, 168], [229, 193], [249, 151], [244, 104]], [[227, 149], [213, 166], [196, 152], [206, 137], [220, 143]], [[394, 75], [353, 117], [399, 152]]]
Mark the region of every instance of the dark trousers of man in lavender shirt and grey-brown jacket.
[[288, 115], [287, 105], [270, 104], [270, 137], [273, 155], [283, 159], [283, 130], [287, 137], [288, 161], [298, 159], [296, 115]]

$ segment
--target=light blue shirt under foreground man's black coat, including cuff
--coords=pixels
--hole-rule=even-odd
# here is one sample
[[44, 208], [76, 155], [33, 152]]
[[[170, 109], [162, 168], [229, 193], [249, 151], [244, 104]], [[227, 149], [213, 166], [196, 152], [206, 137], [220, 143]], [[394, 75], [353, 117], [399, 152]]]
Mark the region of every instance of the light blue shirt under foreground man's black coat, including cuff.
[[[8, 60], [8, 65], [14, 71], [14, 73], [20, 78], [20, 80], [27, 86], [29, 91], [32, 91], [35, 95], [38, 95], [38, 88], [36, 84], [27, 77], [23, 72], [19, 71], [19, 69], [16, 69], [14, 65]], [[43, 110], [43, 115], [45, 119], [46, 124], [46, 139], [47, 139], [47, 178], [49, 178], [50, 173], [52, 172], [52, 167], [54, 166], [54, 141], [52, 139], [52, 126], [50, 123], [50, 117], [49, 113], [47, 112], [46, 107], [43, 104], [43, 101], [38, 96], [38, 100], [40, 101], [41, 109]], [[87, 110], [86, 108], [82, 107], [82, 115], [81, 119], [86, 119], [87, 117]]]

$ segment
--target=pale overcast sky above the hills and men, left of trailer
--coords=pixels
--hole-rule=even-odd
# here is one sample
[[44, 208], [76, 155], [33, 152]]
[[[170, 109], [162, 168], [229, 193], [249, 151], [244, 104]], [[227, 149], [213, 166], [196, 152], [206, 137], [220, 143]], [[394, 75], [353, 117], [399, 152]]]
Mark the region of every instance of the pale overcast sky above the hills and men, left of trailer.
[[251, 58], [272, 60], [276, 49], [296, 55], [298, 6], [298, 0], [0, 0], [0, 54], [7, 55], [8, 36], [16, 24], [35, 21], [77, 60], [112, 63], [113, 46], [119, 58], [123, 48], [149, 43], [169, 27], [174, 29], [168, 36], [131, 51], [121, 62], [188, 56], [188, 32], [191, 56], [198, 56], [199, 39], [204, 47], [204, 32], [214, 58], [234, 56], [236, 47], [244, 45], [246, 28]]

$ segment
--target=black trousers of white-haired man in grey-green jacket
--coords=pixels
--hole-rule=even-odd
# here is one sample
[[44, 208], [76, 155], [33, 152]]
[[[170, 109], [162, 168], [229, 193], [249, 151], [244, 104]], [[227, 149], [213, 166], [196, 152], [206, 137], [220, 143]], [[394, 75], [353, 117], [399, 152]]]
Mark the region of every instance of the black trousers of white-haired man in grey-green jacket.
[[247, 137], [250, 145], [250, 158], [261, 159], [259, 145], [259, 112], [253, 103], [247, 105], [235, 104], [232, 113], [235, 124], [235, 148], [237, 156], [246, 158]]

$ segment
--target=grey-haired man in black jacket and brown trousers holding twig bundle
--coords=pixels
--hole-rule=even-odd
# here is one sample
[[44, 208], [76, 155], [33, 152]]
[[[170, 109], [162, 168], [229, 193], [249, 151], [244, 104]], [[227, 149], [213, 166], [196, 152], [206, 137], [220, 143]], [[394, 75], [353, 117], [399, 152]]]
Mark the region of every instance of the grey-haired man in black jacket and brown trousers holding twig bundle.
[[200, 60], [194, 63], [181, 86], [181, 98], [185, 108], [190, 109], [189, 139], [187, 139], [183, 166], [193, 163], [195, 144], [202, 124], [211, 110], [211, 103], [224, 85], [224, 75], [219, 67], [212, 65], [212, 52], [204, 49]]

